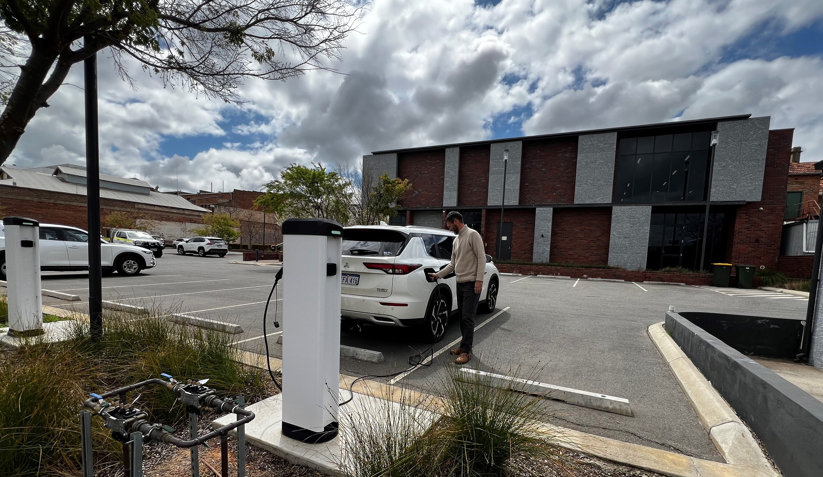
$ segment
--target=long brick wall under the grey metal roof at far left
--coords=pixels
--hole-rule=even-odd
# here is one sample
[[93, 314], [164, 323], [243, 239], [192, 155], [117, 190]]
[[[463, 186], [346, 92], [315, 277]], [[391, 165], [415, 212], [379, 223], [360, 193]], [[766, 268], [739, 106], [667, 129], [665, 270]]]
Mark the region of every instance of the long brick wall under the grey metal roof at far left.
[[[26, 189], [14, 186], [0, 186], [0, 206], [5, 207], [5, 215], [22, 215], [47, 224], [72, 225], [86, 229], [86, 196]], [[146, 214], [153, 220], [170, 222], [202, 222], [202, 214], [197, 211], [185, 212], [168, 207], [149, 206], [135, 202], [115, 201], [100, 198], [100, 220], [113, 211], [131, 211]]]

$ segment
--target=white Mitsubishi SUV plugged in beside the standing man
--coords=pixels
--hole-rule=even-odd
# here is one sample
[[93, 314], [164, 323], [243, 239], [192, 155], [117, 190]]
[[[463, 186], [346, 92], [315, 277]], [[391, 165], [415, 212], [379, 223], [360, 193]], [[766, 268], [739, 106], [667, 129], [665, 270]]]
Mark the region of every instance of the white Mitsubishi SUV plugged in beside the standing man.
[[[449, 264], [455, 237], [449, 230], [415, 226], [343, 229], [342, 319], [422, 326], [430, 339], [441, 339], [449, 316], [458, 309], [457, 281], [452, 274], [435, 284], [425, 274]], [[495, 309], [498, 289], [497, 267], [486, 255], [480, 313]]]

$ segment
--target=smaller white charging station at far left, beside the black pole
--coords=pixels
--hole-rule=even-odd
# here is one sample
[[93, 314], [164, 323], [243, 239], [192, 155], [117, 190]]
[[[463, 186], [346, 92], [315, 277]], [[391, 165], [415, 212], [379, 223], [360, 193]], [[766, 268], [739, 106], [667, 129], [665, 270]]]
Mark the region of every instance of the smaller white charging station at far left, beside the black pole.
[[42, 335], [40, 222], [16, 215], [2, 221], [6, 229], [8, 335]]

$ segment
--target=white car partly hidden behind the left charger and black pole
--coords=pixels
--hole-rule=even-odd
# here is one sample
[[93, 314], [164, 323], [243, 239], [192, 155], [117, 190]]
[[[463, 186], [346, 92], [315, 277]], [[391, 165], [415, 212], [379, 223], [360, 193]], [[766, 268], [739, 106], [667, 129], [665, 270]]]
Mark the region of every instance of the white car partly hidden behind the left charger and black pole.
[[[100, 240], [103, 275], [117, 271], [134, 276], [156, 265], [151, 250]], [[40, 224], [40, 270], [78, 271], [89, 269], [89, 234], [67, 225]], [[0, 220], [0, 280], [6, 280], [6, 230]]]

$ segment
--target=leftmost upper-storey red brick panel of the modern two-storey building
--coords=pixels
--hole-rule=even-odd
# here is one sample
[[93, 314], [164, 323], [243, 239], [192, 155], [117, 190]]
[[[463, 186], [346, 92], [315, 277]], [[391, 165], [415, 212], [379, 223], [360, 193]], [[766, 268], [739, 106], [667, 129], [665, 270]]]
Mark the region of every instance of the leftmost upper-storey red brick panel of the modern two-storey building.
[[404, 207], [442, 207], [446, 150], [408, 152], [398, 155], [398, 177], [412, 183], [401, 201]]

